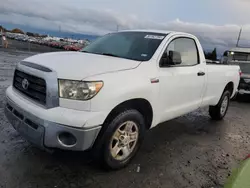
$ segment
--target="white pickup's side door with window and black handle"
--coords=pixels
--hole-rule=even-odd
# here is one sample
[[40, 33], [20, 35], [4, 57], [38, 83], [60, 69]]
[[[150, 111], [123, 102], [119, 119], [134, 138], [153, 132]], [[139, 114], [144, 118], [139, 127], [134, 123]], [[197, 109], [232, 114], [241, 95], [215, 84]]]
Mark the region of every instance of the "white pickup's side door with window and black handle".
[[[164, 64], [163, 58], [177, 61]], [[197, 43], [191, 37], [175, 37], [167, 45], [159, 61], [161, 121], [191, 112], [201, 104], [205, 63], [200, 59]]]

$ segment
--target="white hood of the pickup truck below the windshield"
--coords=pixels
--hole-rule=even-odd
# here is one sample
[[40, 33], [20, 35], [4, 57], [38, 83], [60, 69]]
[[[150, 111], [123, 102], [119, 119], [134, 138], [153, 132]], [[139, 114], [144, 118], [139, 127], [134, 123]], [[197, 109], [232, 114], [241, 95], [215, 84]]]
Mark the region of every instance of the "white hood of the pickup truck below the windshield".
[[57, 72], [58, 78], [82, 80], [90, 76], [136, 68], [141, 63], [83, 52], [53, 52], [31, 56], [24, 61]]

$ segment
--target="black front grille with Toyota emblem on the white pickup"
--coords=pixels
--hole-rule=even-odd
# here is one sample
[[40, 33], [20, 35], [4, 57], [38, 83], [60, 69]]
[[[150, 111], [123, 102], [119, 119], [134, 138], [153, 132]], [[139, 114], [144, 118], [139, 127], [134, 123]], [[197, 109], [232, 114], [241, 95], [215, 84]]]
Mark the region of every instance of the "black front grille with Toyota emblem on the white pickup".
[[[23, 87], [24, 79], [28, 81], [27, 88]], [[46, 82], [44, 79], [15, 70], [13, 86], [33, 100], [46, 105]]]

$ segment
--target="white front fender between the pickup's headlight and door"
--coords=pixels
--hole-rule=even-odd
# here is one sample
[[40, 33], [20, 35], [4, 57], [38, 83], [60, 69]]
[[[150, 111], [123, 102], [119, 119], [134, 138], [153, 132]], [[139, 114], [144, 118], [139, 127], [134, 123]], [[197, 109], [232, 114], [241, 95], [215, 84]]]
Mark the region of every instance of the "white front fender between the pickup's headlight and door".
[[[91, 111], [110, 112], [117, 105], [131, 99], [149, 101], [153, 111], [156, 110], [159, 84], [151, 83], [153, 71], [128, 70], [94, 78], [104, 81], [101, 91], [91, 100]], [[158, 100], [158, 101], [157, 101]]]

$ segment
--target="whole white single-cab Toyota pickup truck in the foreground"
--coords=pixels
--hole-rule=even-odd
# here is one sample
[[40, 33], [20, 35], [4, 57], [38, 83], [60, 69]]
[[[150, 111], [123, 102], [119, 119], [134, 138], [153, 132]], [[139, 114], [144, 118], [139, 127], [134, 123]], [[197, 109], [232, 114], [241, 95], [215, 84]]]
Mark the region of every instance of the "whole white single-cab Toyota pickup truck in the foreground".
[[5, 114], [42, 148], [95, 151], [111, 169], [131, 161], [147, 130], [210, 106], [221, 120], [239, 66], [207, 65], [188, 33], [132, 30], [80, 52], [44, 53], [17, 64]]

